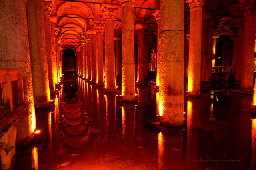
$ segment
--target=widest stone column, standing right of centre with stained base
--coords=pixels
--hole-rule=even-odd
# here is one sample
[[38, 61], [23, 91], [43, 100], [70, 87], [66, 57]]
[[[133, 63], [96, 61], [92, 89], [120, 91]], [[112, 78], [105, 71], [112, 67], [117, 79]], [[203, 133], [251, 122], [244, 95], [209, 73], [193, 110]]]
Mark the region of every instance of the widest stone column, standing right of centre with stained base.
[[184, 117], [184, 1], [161, 1], [160, 11], [160, 123], [180, 126]]

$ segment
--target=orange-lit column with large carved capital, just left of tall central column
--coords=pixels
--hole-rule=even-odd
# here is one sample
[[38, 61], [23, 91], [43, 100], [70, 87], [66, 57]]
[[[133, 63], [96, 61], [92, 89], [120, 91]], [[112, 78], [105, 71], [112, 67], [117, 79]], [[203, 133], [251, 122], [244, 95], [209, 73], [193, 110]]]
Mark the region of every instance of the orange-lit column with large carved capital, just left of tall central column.
[[115, 35], [114, 19], [116, 18], [119, 4], [103, 2], [101, 9], [105, 18], [105, 90], [116, 91], [115, 77]]

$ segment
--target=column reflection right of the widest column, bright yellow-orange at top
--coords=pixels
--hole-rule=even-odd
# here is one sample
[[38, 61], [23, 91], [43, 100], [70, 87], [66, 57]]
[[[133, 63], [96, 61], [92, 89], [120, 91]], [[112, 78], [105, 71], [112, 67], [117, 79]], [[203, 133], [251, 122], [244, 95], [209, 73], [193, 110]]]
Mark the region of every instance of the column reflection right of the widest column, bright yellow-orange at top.
[[189, 99], [187, 112], [187, 170], [197, 170], [200, 100]]

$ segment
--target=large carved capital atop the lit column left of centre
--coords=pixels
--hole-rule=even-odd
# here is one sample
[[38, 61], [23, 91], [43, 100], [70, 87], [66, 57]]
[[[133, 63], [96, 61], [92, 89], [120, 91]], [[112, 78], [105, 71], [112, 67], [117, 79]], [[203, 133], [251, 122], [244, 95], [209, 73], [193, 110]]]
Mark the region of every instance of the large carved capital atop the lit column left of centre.
[[114, 20], [116, 18], [116, 13], [118, 12], [119, 4], [111, 4], [103, 2], [100, 9], [105, 20]]

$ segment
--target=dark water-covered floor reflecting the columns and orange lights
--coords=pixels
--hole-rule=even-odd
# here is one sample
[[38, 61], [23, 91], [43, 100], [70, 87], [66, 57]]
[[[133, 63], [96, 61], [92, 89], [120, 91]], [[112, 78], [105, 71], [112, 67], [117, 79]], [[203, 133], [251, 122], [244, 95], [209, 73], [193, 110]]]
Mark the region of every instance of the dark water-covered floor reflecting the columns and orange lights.
[[251, 95], [203, 90], [199, 99], [185, 97], [184, 125], [167, 127], [152, 125], [154, 81], [137, 86], [134, 103], [103, 90], [64, 81], [60, 114], [36, 110], [41, 134], [16, 148], [16, 170], [256, 170]]

